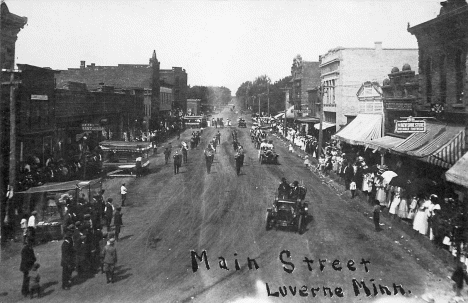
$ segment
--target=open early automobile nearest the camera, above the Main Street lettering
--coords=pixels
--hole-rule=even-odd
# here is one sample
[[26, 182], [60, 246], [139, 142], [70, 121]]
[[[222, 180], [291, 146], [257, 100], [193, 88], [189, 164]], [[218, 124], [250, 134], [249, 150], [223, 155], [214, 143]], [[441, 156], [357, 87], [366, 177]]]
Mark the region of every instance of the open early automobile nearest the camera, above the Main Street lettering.
[[[303, 188], [305, 190], [305, 188]], [[305, 190], [306, 191], [306, 190]], [[305, 194], [303, 195], [305, 197]], [[273, 206], [267, 208], [266, 230], [275, 228], [292, 228], [295, 232], [303, 234], [309, 218], [309, 203], [303, 199], [275, 198]]]

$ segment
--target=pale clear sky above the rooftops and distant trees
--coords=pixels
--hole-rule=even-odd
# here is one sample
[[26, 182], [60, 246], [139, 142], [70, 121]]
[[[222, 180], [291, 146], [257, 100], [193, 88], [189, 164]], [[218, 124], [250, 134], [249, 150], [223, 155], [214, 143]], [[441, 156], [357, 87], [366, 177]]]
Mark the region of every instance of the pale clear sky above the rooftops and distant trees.
[[[6, 0], [28, 18], [16, 63], [52, 69], [148, 64], [187, 71], [188, 84], [225, 86], [291, 74], [296, 55], [318, 61], [337, 46], [417, 48], [407, 31], [441, 0]], [[403, 64], [404, 62], [402, 62]]]

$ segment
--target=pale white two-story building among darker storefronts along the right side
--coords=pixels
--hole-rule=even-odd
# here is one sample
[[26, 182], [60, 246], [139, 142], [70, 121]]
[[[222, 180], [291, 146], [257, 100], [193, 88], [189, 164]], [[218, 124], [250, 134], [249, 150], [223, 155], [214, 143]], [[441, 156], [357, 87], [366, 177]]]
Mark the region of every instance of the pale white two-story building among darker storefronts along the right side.
[[[351, 122], [359, 113], [356, 92], [365, 81], [380, 81], [394, 66], [408, 63], [416, 66], [417, 49], [337, 47], [320, 56], [324, 121], [335, 130]], [[316, 109], [317, 113], [318, 110]]]

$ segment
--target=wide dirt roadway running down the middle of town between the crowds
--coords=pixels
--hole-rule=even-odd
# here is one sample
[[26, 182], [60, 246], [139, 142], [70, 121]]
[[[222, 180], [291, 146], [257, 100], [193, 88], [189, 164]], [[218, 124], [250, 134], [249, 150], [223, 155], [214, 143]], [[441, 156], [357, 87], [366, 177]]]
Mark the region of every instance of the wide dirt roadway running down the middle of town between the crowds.
[[[218, 116], [233, 121], [237, 118], [229, 109]], [[246, 151], [240, 176], [234, 167], [233, 129]], [[211, 174], [207, 174], [203, 148], [217, 131], [222, 143]], [[191, 130], [186, 130], [181, 140], [188, 140], [190, 134]], [[418, 300], [424, 293], [450, 294], [448, 271], [441, 261], [416, 241], [402, 238], [396, 228], [389, 229], [388, 224], [384, 231], [375, 232], [370, 214], [363, 214], [369, 207], [325, 185], [303, 167], [302, 159], [288, 153], [283, 141], [270, 138], [280, 154], [279, 165], [261, 165], [258, 151], [250, 142], [249, 128], [235, 126], [205, 129], [201, 146], [189, 151], [189, 162], [178, 175], [174, 175], [172, 163], [164, 165], [158, 151], [151, 160], [152, 172], [127, 182], [123, 239], [116, 244], [116, 283], [106, 284], [104, 275], [98, 274], [64, 291], [60, 288], [61, 242], [40, 245], [35, 250], [43, 264], [42, 283], [48, 283], [47, 296], [40, 301], [422, 302]], [[173, 146], [178, 144], [173, 140]], [[271, 206], [282, 177], [302, 182], [308, 189], [306, 200], [310, 201], [312, 218], [302, 235], [289, 230], [265, 230], [266, 208]], [[106, 193], [119, 202], [120, 180], [106, 182], [107, 188], [112, 188]], [[198, 255], [206, 251], [210, 269], [195, 258], [198, 270], [194, 272], [192, 251]], [[220, 257], [226, 260], [229, 270], [220, 268]], [[249, 269], [248, 258], [255, 259], [258, 269], [253, 262]], [[304, 262], [305, 258], [313, 263]], [[19, 258], [2, 266], [5, 270], [0, 275], [11, 275], [19, 293]], [[294, 270], [288, 273], [286, 270], [292, 266]], [[370, 296], [366, 296], [364, 287], [355, 284], [359, 292], [356, 295], [353, 279], [361, 285], [364, 281]], [[394, 295], [394, 284], [399, 291], [401, 286], [405, 297]], [[382, 295], [379, 285], [387, 286], [391, 295]], [[282, 286], [286, 286], [285, 296], [277, 294]], [[301, 289], [307, 297], [301, 296]], [[0, 296], [0, 301], [21, 300], [17, 293], [10, 289]]]

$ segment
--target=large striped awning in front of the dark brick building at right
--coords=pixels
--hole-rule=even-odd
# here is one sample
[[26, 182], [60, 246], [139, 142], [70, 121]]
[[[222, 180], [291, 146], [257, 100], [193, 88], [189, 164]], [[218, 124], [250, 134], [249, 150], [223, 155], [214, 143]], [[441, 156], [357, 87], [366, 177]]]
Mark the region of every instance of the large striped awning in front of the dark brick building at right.
[[414, 133], [391, 151], [406, 154], [444, 168], [450, 168], [462, 156], [465, 127], [426, 122], [426, 132]]

